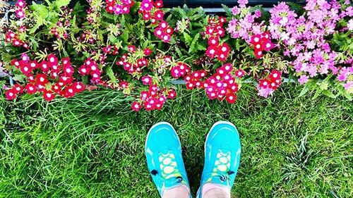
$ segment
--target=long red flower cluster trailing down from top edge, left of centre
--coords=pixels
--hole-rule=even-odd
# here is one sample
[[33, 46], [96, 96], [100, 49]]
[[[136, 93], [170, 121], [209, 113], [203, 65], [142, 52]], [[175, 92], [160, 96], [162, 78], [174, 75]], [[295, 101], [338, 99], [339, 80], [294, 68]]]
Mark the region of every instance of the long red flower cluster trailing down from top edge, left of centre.
[[155, 28], [155, 36], [163, 42], [169, 42], [174, 30], [167, 21], [163, 20], [162, 7], [163, 1], [143, 0], [138, 12], [142, 14], [143, 20], [150, 20], [152, 24], [159, 22], [158, 27]]

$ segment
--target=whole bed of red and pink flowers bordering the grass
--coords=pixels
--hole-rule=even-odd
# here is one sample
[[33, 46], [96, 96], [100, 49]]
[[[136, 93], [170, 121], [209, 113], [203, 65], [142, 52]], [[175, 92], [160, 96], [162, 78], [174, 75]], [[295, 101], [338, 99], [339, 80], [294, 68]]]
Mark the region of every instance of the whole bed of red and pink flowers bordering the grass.
[[270, 11], [247, 0], [208, 16], [202, 8], [162, 8], [162, 1], [19, 0], [2, 28], [1, 62], [20, 94], [74, 97], [104, 86], [132, 94], [132, 109], [160, 110], [176, 97], [172, 80], [234, 103], [241, 85], [256, 82], [268, 97], [283, 78], [316, 97], [353, 94], [353, 7], [349, 1], [280, 3]]

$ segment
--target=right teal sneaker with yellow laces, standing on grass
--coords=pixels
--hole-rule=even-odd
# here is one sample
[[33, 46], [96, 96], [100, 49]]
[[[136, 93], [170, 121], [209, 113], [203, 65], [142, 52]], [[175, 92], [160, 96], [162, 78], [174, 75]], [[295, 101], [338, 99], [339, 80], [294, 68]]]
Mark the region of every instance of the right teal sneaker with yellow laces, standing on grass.
[[240, 163], [241, 145], [237, 128], [227, 121], [215, 123], [206, 137], [205, 163], [196, 197], [210, 182], [232, 189]]

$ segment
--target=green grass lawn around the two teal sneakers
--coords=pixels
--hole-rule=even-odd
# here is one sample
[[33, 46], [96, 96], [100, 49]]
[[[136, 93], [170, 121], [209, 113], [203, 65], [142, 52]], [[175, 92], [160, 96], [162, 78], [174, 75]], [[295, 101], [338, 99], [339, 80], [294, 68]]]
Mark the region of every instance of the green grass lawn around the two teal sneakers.
[[111, 90], [50, 104], [1, 93], [0, 197], [157, 197], [143, 151], [162, 120], [179, 134], [193, 194], [205, 135], [230, 120], [242, 145], [232, 197], [352, 197], [352, 101], [299, 92], [285, 85], [261, 99], [247, 87], [229, 105], [182, 91], [162, 111], [140, 113]]

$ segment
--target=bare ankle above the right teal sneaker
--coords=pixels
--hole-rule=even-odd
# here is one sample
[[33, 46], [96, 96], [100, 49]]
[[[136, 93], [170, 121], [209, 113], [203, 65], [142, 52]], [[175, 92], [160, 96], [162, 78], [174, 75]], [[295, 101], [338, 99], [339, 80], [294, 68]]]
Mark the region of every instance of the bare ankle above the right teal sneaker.
[[230, 198], [230, 190], [227, 186], [213, 183], [205, 183], [202, 187], [202, 197], [205, 198]]

